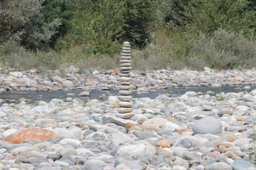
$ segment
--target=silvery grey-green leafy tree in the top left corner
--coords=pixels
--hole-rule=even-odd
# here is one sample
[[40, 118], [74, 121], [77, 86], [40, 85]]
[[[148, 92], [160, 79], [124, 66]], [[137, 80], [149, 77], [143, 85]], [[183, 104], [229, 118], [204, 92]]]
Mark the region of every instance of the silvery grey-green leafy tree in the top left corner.
[[4, 0], [0, 4], [0, 44], [15, 41], [27, 49], [48, 48], [61, 25], [58, 18], [45, 22], [41, 15], [44, 0]]

